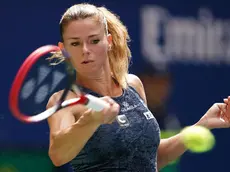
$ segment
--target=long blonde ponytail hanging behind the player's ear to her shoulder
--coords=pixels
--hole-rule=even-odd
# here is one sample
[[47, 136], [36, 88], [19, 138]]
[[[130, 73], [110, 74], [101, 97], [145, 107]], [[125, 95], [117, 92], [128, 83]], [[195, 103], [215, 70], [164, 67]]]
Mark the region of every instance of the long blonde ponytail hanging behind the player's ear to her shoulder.
[[119, 20], [118, 16], [110, 12], [105, 7], [98, 8], [104, 14], [107, 22], [108, 33], [112, 35], [112, 47], [108, 52], [109, 63], [119, 85], [123, 88], [127, 87], [127, 74], [131, 51], [128, 46], [130, 37], [127, 28]]

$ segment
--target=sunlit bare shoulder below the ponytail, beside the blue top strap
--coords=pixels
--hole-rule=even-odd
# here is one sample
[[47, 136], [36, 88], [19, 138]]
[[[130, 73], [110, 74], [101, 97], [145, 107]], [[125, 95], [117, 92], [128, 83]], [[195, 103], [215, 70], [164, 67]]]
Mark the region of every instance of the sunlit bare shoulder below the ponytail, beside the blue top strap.
[[128, 74], [128, 85], [132, 86], [141, 96], [141, 98], [147, 103], [144, 86], [140, 78], [134, 74]]

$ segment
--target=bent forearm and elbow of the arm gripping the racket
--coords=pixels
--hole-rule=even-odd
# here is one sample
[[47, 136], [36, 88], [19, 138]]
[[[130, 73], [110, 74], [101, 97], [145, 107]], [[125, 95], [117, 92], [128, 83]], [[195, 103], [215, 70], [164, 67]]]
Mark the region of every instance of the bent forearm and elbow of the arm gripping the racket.
[[74, 123], [69, 128], [53, 134], [50, 138], [49, 156], [56, 166], [71, 161], [97, 130], [99, 124], [89, 122], [87, 125]]

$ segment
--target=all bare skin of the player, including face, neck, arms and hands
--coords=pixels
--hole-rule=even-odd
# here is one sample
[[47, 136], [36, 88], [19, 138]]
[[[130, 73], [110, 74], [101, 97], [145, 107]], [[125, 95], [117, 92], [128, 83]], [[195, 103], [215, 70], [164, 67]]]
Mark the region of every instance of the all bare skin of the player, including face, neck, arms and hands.
[[[48, 119], [50, 127], [49, 156], [56, 166], [71, 161], [84, 147], [96, 129], [105, 123], [111, 123], [119, 112], [119, 105], [110, 97], [122, 94], [122, 88], [111, 78], [107, 52], [112, 46], [112, 36], [106, 35], [102, 24], [90, 18], [70, 22], [64, 29], [65, 48], [70, 54], [70, 61], [78, 72], [77, 82], [101, 95], [101, 99], [109, 107], [101, 112], [94, 112], [81, 105], [61, 109]], [[84, 61], [91, 63], [84, 64]], [[128, 84], [133, 86], [147, 104], [145, 90], [141, 80], [132, 74], [128, 75]], [[55, 104], [61, 95], [55, 93], [49, 100], [47, 108]], [[67, 99], [76, 95], [69, 93]], [[194, 125], [209, 129], [227, 128], [230, 126], [230, 97], [223, 103], [214, 104], [205, 115]], [[63, 115], [65, 114], [65, 115]], [[221, 118], [220, 118], [221, 117]], [[180, 139], [180, 134], [168, 139], [162, 139], [158, 148], [158, 169], [178, 158], [186, 151]]]

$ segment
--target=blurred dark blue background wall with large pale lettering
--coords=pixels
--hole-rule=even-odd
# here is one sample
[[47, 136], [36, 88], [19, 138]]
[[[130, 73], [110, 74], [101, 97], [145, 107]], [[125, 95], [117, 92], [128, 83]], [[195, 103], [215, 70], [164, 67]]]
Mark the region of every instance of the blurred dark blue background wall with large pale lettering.
[[[128, 27], [130, 72], [143, 81], [162, 137], [194, 124], [213, 103], [230, 95], [226, 0], [1, 0], [0, 172], [69, 170], [68, 164], [55, 168], [49, 160], [47, 123], [25, 125], [14, 119], [8, 93], [23, 60], [42, 45], [58, 43], [61, 15], [80, 2], [109, 8]], [[217, 143], [212, 151], [186, 152], [162, 172], [229, 171], [230, 130], [213, 133]]]

